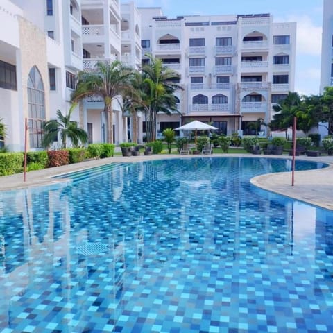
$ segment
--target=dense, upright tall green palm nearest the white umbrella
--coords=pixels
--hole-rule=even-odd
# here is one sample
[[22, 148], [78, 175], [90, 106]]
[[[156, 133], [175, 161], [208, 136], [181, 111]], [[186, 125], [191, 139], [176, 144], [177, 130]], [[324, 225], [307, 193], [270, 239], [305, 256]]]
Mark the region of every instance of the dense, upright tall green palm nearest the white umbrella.
[[147, 55], [151, 62], [142, 67], [143, 101], [146, 105], [146, 133], [147, 141], [156, 139], [157, 112], [171, 114], [178, 111], [176, 97], [173, 95], [177, 89], [182, 89], [178, 83], [179, 74], [166, 66], [162, 60]]

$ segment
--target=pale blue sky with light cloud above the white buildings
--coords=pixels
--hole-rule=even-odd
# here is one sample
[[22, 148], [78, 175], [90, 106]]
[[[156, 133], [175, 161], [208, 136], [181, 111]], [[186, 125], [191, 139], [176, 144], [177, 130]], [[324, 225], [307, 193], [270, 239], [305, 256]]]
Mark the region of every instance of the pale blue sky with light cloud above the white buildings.
[[[128, 3], [130, 0], [121, 0]], [[332, 0], [333, 1], [333, 0]], [[134, 0], [136, 6], [162, 7], [169, 18], [178, 15], [270, 13], [274, 22], [296, 22], [295, 89], [319, 94], [323, 0]]]

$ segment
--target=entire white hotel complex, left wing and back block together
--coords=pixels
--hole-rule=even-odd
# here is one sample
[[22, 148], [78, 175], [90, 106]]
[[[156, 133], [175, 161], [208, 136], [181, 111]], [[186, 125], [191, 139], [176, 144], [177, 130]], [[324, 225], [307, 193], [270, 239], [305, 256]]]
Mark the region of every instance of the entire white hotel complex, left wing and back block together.
[[[293, 91], [296, 24], [275, 23], [271, 15], [168, 19], [161, 8], [119, 0], [2, 0], [0, 27], [2, 144], [10, 151], [24, 150], [25, 134], [29, 150], [41, 147], [42, 122], [69, 110], [76, 74], [99, 60], [139, 68], [148, 52], [179, 72], [179, 112], [158, 114], [160, 133], [198, 119], [220, 133], [251, 134], [248, 123], [268, 122], [272, 103]], [[106, 142], [103, 108], [90, 96], [74, 114], [89, 143]], [[114, 142], [126, 142], [130, 117], [115, 100], [112, 109]], [[139, 141], [144, 130], [141, 117]]]

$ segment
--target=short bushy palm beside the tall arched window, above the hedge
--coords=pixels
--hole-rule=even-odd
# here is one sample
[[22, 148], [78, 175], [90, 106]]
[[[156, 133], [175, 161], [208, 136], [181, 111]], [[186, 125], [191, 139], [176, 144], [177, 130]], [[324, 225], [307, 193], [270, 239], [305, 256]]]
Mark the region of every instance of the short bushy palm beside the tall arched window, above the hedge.
[[69, 112], [67, 114], [62, 114], [60, 110], [57, 110], [56, 119], [51, 119], [44, 123], [44, 136], [42, 141], [42, 146], [49, 147], [58, 138], [58, 133], [60, 132], [60, 137], [62, 140], [62, 148], [67, 148], [67, 138], [71, 139], [74, 146], [78, 146], [79, 142], [86, 144], [88, 141], [88, 135], [82, 128], [78, 128], [76, 121], [71, 121], [71, 114], [76, 107], [76, 103], [71, 105]]

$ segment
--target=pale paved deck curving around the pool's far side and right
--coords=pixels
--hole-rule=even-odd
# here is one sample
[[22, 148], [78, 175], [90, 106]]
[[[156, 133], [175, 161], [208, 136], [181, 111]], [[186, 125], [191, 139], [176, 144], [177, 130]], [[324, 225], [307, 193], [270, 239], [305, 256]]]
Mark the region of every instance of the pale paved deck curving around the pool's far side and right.
[[[55, 167], [26, 173], [26, 182], [24, 182], [23, 173], [18, 173], [11, 176], [0, 177], [0, 191], [22, 189], [25, 187], [50, 185], [62, 180], [51, 178], [63, 173], [74, 172], [82, 169], [89, 169], [104, 164], [119, 163], [119, 162], [142, 162], [148, 160], [163, 160], [174, 158], [191, 158], [193, 155], [151, 155], [151, 156], [132, 156], [122, 157], [114, 156], [103, 160], [90, 160], [77, 164], [69, 164], [63, 167]], [[199, 155], [199, 157], [248, 157], [248, 158], [286, 158], [291, 159], [287, 155], [244, 155], [244, 154], [213, 154]], [[299, 156], [297, 160], [311, 160], [315, 162], [324, 162], [329, 164], [327, 168], [296, 171], [294, 173], [294, 185], [291, 186], [291, 172], [283, 173], [268, 173], [262, 176], [257, 176], [251, 179], [251, 183], [262, 189], [273, 191], [290, 198], [317, 205], [320, 207], [333, 210], [333, 156], [307, 157]]]

